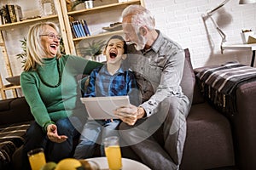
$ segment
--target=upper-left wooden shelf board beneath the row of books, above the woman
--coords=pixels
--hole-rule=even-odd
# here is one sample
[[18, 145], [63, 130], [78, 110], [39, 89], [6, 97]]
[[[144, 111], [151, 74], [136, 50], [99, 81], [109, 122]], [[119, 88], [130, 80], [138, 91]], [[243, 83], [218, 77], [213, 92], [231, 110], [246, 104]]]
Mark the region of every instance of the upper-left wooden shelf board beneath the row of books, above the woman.
[[23, 25], [31, 25], [33, 23], [36, 23], [38, 21], [44, 21], [44, 20], [53, 20], [53, 19], [58, 19], [58, 15], [50, 15], [50, 16], [45, 16], [45, 17], [41, 17], [41, 18], [36, 18], [36, 19], [30, 19], [30, 20], [22, 20], [19, 22], [15, 22], [15, 23], [10, 23], [10, 24], [5, 24], [5, 25], [1, 25], [0, 26], [0, 31], [3, 30], [9, 30], [15, 26], [23, 26]]

